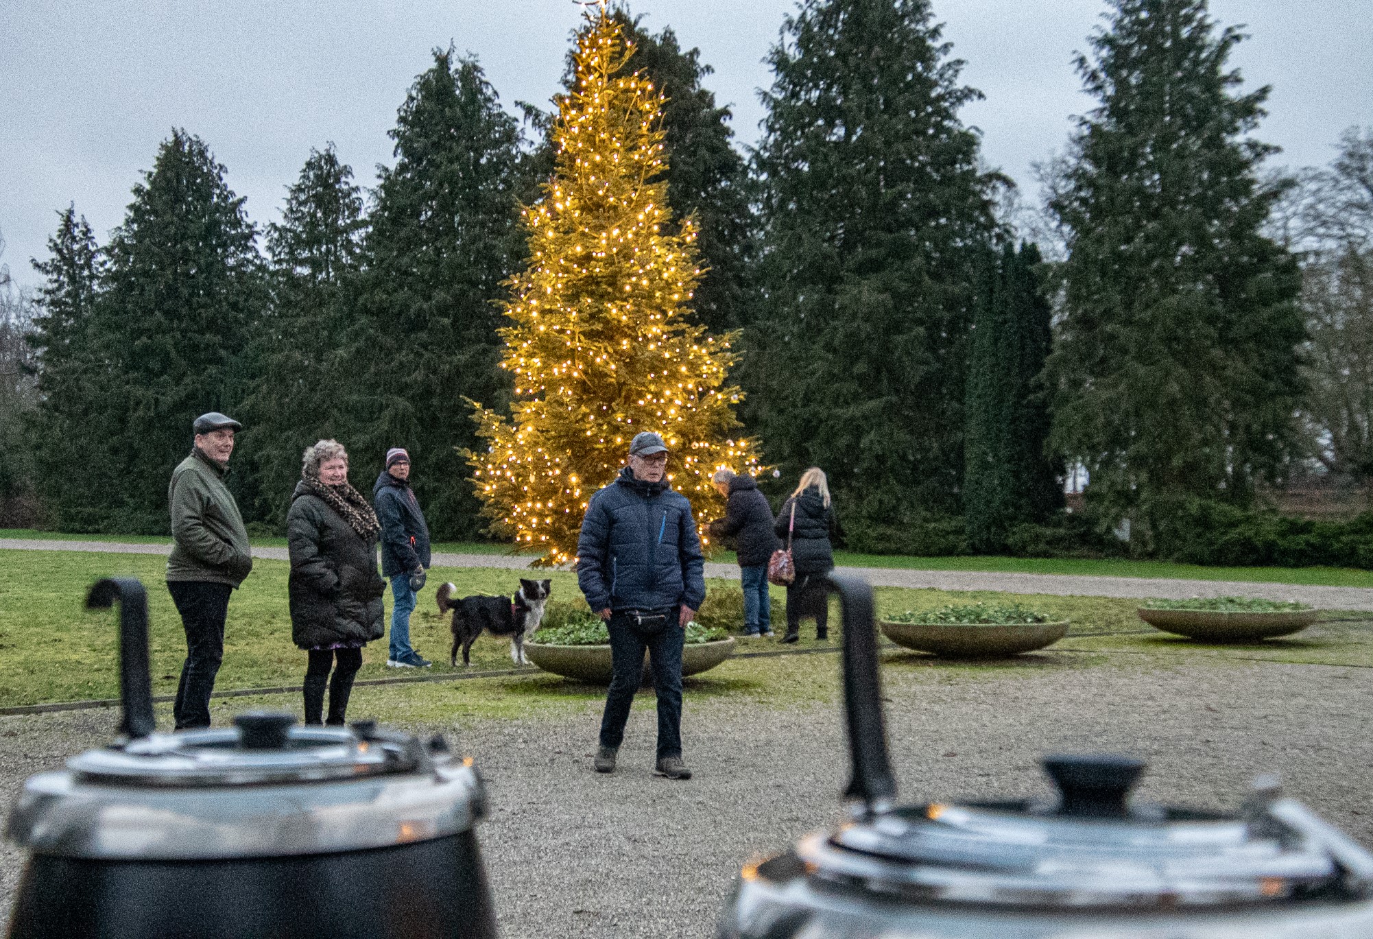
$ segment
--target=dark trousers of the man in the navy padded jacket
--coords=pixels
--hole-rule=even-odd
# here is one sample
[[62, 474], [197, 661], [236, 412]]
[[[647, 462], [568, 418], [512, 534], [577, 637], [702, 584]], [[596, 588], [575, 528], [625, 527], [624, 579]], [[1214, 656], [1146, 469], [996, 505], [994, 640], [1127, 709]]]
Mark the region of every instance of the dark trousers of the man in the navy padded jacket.
[[644, 677], [644, 652], [654, 670], [658, 692], [658, 759], [682, 754], [682, 641], [678, 611], [667, 611], [667, 626], [658, 636], [643, 637], [630, 627], [626, 612], [610, 616], [610, 658], [614, 677], [601, 715], [601, 747], [619, 747], [634, 693]]

